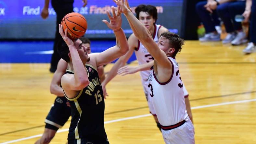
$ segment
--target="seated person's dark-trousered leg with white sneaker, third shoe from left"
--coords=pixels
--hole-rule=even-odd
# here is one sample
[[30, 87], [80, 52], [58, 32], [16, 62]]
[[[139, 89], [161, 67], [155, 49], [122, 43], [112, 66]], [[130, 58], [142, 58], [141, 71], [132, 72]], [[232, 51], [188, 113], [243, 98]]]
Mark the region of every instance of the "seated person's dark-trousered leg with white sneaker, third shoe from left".
[[234, 29], [237, 32], [236, 38], [231, 42], [232, 45], [240, 45], [247, 42], [246, 33], [242, 29], [241, 22], [235, 21], [236, 15], [242, 15], [245, 11], [245, 1], [236, 1], [228, 6], [229, 14], [232, 18]]

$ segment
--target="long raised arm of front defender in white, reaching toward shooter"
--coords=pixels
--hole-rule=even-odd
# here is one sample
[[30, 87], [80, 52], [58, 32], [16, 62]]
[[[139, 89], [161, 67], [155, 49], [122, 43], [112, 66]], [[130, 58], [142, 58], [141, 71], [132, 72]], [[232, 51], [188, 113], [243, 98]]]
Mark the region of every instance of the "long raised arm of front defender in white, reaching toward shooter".
[[147, 51], [154, 57], [158, 66], [168, 67], [172, 69], [171, 62], [166, 57], [166, 54], [160, 50], [156, 42], [154, 42], [151, 33], [147, 28], [134, 16], [134, 14], [127, 8], [129, 7], [128, 1], [125, 3], [120, 0], [113, 0], [120, 8], [122, 13], [128, 19], [129, 25], [131, 26], [134, 35], [139, 39], [139, 41], [147, 48]]

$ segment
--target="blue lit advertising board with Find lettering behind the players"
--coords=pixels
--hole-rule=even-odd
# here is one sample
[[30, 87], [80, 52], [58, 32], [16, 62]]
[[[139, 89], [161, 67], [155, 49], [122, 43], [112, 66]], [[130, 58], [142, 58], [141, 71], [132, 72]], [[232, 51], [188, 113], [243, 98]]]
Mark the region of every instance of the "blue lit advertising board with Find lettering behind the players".
[[[81, 0], [74, 1], [74, 11], [87, 19], [86, 37], [114, 38], [112, 31], [102, 22], [102, 19], [108, 20], [106, 10], [115, 6], [112, 0], [88, 0], [85, 7], [82, 7]], [[157, 24], [180, 34], [183, 0], [129, 0], [129, 3], [132, 8], [140, 4], [156, 6]], [[0, 0], [0, 39], [53, 39], [56, 13], [50, 4], [49, 17], [42, 19], [43, 6], [44, 0]], [[122, 28], [127, 36], [132, 33], [124, 17]]]

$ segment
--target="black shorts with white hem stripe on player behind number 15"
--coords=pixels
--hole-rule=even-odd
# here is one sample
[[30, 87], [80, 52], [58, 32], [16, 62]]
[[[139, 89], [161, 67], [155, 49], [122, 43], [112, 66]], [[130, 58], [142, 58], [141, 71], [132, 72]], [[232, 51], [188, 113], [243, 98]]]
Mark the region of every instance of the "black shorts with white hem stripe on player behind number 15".
[[71, 115], [71, 109], [67, 106], [66, 97], [57, 97], [54, 101], [54, 104], [46, 116], [45, 119], [45, 128], [52, 130], [58, 130], [68, 121]]

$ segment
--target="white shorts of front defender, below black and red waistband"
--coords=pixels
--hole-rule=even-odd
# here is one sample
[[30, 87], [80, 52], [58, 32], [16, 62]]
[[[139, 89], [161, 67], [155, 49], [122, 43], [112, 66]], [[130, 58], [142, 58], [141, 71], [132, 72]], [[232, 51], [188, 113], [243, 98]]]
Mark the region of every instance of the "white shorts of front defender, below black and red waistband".
[[190, 119], [177, 128], [162, 129], [162, 135], [166, 144], [195, 144], [195, 129]]

